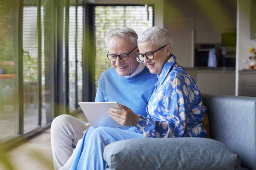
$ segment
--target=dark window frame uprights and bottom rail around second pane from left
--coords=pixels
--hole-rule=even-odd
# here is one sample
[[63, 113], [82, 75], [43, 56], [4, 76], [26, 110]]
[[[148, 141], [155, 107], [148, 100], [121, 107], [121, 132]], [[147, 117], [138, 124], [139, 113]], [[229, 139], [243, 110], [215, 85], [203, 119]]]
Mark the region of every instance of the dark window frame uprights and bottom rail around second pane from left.
[[37, 122], [37, 126], [35, 126], [30, 131], [24, 133], [24, 91], [23, 91], [23, 38], [22, 38], [22, 31], [23, 31], [23, 0], [19, 0], [17, 3], [14, 4], [14, 51], [15, 51], [15, 59], [17, 61], [16, 69], [17, 69], [17, 91], [18, 93], [18, 100], [15, 101], [18, 103], [18, 134], [14, 137], [7, 138], [3, 141], [4, 149], [10, 149], [12, 146], [16, 145], [17, 143], [20, 143], [22, 140], [27, 139], [31, 137], [32, 135], [39, 133], [45, 129], [47, 129], [50, 126], [49, 124], [46, 124], [44, 126], [41, 126], [41, 120], [42, 120], [42, 83], [41, 83], [41, 69], [42, 69], [42, 28], [41, 28], [41, 0], [37, 0], [37, 38], [38, 38], [38, 63], [37, 66], [39, 68], [38, 75], [38, 86], [39, 86], [39, 122]]

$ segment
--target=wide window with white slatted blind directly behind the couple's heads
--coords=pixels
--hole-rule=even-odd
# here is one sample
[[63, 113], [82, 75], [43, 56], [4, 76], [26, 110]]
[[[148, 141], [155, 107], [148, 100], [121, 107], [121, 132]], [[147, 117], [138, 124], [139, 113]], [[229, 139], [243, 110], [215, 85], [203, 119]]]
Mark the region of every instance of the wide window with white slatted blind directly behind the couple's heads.
[[127, 26], [137, 34], [153, 26], [152, 6], [96, 6], [95, 7], [95, 91], [100, 74], [111, 67], [107, 59], [105, 36], [108, 31], [120, 26]]

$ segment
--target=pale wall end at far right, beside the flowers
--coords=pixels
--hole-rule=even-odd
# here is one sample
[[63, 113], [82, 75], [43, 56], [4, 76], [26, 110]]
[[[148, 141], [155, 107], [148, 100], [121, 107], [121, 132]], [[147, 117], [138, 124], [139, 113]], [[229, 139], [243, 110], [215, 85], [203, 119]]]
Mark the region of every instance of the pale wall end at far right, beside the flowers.
[[250, 39], [250, 5], [251, 0], [237, 1], [237, 44], [236, 44], [236, 95], [238, 95], [238, 70], [246, 68], [245, 60], [249, 58], [249, 48], [256, 48], [256, 39]]

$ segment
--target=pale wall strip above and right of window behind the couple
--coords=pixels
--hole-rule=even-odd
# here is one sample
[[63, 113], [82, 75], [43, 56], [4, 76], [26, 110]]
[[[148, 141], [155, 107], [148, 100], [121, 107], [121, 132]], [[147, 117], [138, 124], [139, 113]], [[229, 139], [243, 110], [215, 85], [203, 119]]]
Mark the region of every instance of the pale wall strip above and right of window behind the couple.
[[163, 0], [94, 0], [95, 4], [139, 4], [154, 5], [154, 23], [155, 26], [163, 26]]

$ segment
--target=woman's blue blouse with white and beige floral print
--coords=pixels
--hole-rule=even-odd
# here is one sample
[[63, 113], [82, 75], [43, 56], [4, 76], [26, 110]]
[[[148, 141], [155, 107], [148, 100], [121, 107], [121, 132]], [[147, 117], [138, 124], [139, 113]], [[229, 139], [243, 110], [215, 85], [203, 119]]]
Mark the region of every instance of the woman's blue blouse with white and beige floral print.
[[206, 107], [201, 93], [175, 59], [172, 55], [157, 76], [147, 117], [139, 116], [135, 129], [145, 137], [206, 137], [202, 127]]

